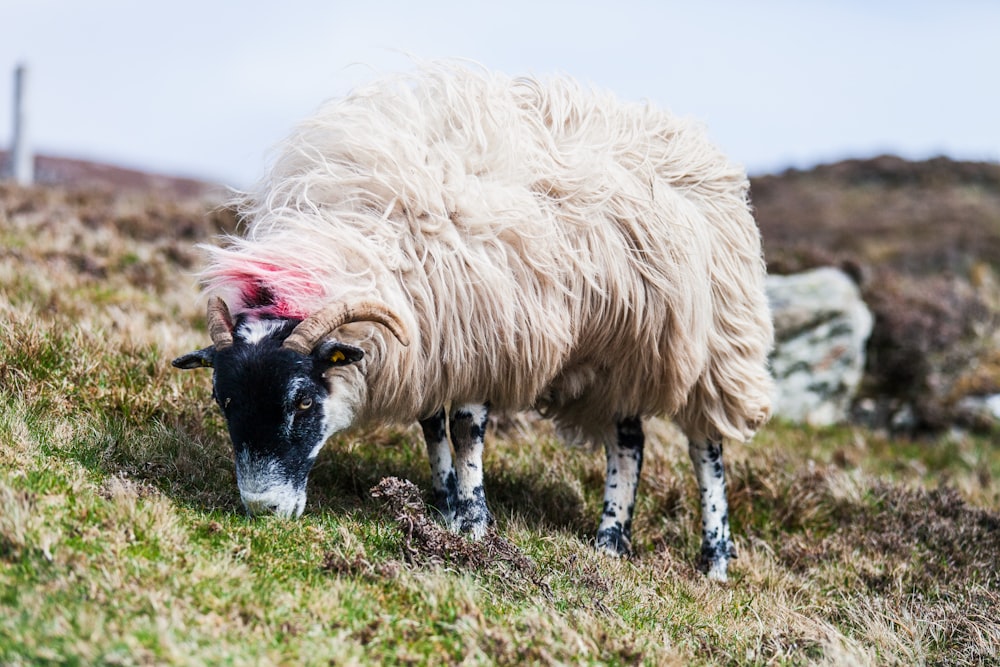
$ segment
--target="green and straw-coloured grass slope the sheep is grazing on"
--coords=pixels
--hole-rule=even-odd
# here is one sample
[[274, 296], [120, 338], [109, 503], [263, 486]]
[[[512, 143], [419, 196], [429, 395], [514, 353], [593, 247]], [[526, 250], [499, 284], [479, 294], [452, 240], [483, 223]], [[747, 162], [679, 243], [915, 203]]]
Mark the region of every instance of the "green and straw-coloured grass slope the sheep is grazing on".
[[730, 446], [725, 585], [694, 568], [696, 488], [662, 422], [629, 560], [589, 544], [603, 456], [532, 420], [489, 434], [482, 544], [372, 496], [429, 487], [413, 427], [334, 439], [301, 519], [251, 521], [207, 375], [169, 367], [206, 340], [191, 241], [117, 229], [113, 198], [0, 194], [34, 202], [0, 206], [0, 664], [1000, 661], [988, 437], [773, 423]]

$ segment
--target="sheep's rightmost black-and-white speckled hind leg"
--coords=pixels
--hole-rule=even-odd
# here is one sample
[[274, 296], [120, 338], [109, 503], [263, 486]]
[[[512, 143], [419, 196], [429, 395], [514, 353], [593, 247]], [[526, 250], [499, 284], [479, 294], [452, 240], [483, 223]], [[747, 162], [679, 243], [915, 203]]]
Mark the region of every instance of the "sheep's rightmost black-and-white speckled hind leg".
[[726, 580], [729, 560], [736, 558], [736, 545], [729, 533], [729, 503], [726, 473], [722, 465], [722, 441], [689, 438], [688, 454], [701, 491], [701, 558], [699, 565], [709, 579]]

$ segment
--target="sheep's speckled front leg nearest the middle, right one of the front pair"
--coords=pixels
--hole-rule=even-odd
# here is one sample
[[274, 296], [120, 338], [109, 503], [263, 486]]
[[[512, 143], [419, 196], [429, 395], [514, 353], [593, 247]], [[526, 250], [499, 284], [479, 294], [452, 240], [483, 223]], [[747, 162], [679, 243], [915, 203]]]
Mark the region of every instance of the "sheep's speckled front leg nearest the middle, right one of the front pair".
[[486, 528], [493, 523], [483, 491], [483, 437], [487, 414], [487, 407], [480, 404], [463, 405], [451, 413], [458, 499], [452, 527], [475, 539], [485, 535]]

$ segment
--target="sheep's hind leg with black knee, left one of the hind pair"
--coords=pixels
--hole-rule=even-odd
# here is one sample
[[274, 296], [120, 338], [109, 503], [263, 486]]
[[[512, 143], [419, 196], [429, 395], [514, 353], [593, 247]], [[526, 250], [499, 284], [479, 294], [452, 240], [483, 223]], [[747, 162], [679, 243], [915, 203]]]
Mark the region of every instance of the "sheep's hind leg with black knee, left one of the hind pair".
[[639, 488], [645, 441], [642, 420], [629, 417], [617, 423], [616, 438], [605, 445], [608, 473], [604, 482], [604, 511], [597, 528], [597, 548], [614, 556], [632, 553], [632, 510]]

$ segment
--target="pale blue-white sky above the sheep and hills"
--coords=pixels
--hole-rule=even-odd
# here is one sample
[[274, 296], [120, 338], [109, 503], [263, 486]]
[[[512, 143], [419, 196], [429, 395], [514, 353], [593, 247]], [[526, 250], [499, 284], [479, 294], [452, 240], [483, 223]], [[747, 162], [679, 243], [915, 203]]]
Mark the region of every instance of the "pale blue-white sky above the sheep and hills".
[[751, 174], [1000, 161], [1000, 2], [0, 0], [0, 147], [249, 187], [324, 100], [414, 59], [565, 74], [701, 120]]

